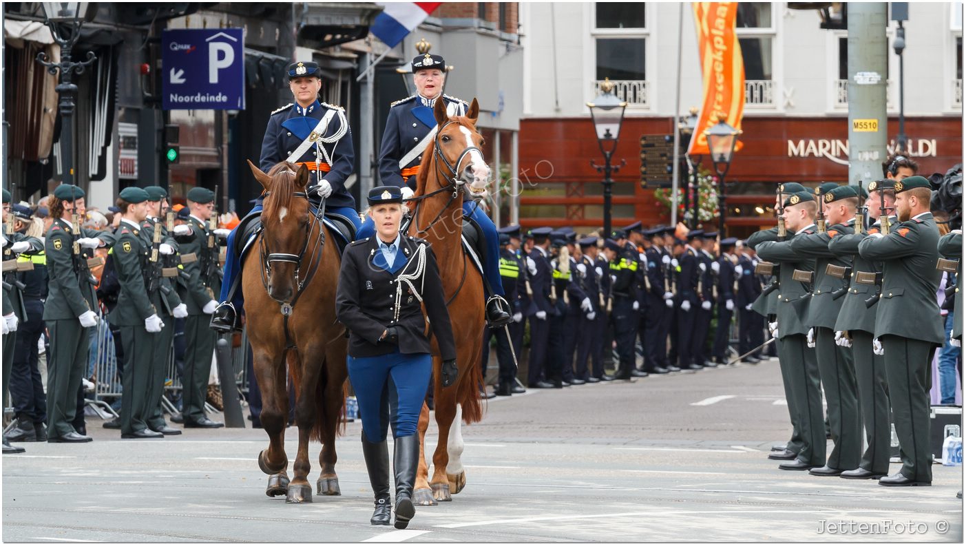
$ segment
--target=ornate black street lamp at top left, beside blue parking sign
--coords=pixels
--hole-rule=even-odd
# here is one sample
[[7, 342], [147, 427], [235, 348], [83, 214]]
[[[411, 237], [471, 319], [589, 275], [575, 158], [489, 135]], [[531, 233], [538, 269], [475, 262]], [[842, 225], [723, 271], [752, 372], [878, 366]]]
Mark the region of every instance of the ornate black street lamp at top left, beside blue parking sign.
[[73, 176], [73, 110], [74, 96], [77, 86], [70, 81], [71, 73], [81, 74], [94, 62], [93, 51], [88, 51], [87, 59], [80, 62], [70, 60], [70, 49], [80, 38], [80, 25], [88, 17], [92, 6], [88, 2], [43, 2], [44, 24], [50, 27], [54, 41], [61, 47], [61, 60], [51, 63], [46, 53], [37, 54], [37, 62], [47, 67], [47, 71], [56, 74], [60, 69], [60, 84], [55, 90], [60, 95], [59, 109], [61, 115], [61, 161], [64, 166], [64, 183], [74, 184]]

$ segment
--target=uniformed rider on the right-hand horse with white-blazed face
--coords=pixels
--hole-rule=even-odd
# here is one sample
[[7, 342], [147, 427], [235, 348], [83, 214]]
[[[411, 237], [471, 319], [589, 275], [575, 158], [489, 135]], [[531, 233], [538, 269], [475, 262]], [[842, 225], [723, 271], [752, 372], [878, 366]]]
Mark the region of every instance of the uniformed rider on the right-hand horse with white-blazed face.
[[[402, 188], [406, 199], [415, 193], [415, 180], [421, 168], [421, 156], [428, 142], [435, 137], [436, 121], [432, 108], [437, 99], [445, 101], [449, 116], [466, 115], [469, 104], [459, 98], [442, 95], [445, 84], [445, 61], [439, 55], [425, 53], [412, 61], [415, 78], [415, 95], [391, 104], [388, 122], [382, 136], [382, 152], [379, 157], [379, 174], [385, 185]], [[492, 292], [486, 301], [486, 318], [491, 327], [501, 327], [512, 320], [505, 302], [502, 278], [498, 272], [498, 232], [495, 224], [477, 203], [462, 204], [465, 214], [485, 235], [486, 258], [483, 274]], [[370, 218], [365, 218], [356, 239], [374, 234]]]

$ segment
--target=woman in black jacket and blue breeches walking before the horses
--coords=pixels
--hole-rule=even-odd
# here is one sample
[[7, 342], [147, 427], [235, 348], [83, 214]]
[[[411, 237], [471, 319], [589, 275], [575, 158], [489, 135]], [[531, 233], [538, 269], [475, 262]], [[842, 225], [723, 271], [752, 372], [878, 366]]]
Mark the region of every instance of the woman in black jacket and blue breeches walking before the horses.
[[435, 255], [427, 242], [399, 233], [402, 189], [368, 193], [374, 233], [353, 242], [341, 258], [335, 311], [350, 332], [348, 375], [362, 413], [362, 452], [375, 493], [372, 525], [388, 525], [388, 423], [395, 442], [395, 528], [415, 515], [418, 414], [432, 372], [426, 315], [442, 356], [442, 387], [455, 383], [455, 340]]

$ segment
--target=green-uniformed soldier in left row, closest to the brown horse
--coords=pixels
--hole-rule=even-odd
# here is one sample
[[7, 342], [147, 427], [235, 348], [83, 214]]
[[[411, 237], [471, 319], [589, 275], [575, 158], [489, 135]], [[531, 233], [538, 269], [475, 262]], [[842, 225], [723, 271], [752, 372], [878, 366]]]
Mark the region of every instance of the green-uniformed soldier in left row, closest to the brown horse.
[[[195, 187], [187, 193], [187, 205], [191, 210], [188, 226], [193, 236], [185, 237], [180, 244], [184, 272], [187, 278], [178, 283], [177, 294], [187, 305], [184, 319], [183, 405], [181, 414], [185, 427], [222, 427], [222, 422], [212, 422], [204, 414], [207, 396], [207, 377], [211, 371], [211, 357], [217, 333], [208, 327], [218, 306], [221, 278], [218, 275], [217, 235], [208, 226], [214, 212], [214, 193], [203, 187]], [[193, 258], [188, 258], [193, 256]]]

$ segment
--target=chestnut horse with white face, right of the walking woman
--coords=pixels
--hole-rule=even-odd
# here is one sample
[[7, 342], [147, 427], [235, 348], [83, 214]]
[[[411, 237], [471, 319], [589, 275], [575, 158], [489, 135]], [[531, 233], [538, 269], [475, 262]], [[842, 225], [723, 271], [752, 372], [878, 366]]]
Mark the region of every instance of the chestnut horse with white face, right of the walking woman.
[[[435, 471], [428, 480], [425, 463], [425, 431], [429, 411], [422, 405], [418, 419], [421, 455], [415, 479], [416, 504], [451, 501], [466, 485], [462, 465], [462, 422], [482, 419], [482, 339], [485, 330], [485, 297], [482, 276], [462, 250], [462, 196], [478, 196], [487, 190], [489, 167], [482, 157], [482, 136], [475, 129], [478, 102], [473, 99], [465, 117], [449, 118], [444, 100], [435, 103], [439, 130], [422, 155], [421, 171], [414, 201], [409, 234], [431, 242], [439, 263], [442, 288], [452, 315], [452, 334], [458, 352], [459, 376], [454, 385], [442, 389], [442, 359], [434, 345], [432, 368], [436, 377], [435, 421], [439, 424], [439, 444], [432, 462]], [[497, 256], [490, 256], [497, 258]], [[433, 340], [434, 343], [434, 340]]]

